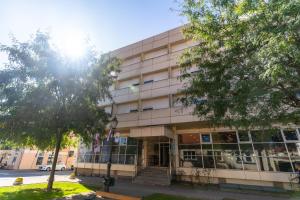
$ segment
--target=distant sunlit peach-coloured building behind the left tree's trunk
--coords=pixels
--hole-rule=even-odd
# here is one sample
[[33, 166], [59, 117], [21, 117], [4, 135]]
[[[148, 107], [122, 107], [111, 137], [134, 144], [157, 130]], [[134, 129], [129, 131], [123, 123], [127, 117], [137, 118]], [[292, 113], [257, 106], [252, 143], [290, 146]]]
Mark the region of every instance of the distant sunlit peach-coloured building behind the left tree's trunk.
[[[53, 151], [39, 151], [36, 149], [7, 149], [0, 150], [0, 166], [5, 169], [38, 169], [41, 165], [52, 164]], [[76, 160], [76, 148], [68, 148], [60, 151], [58, 164], [65, 164], [67, 169], [74, 166]]]

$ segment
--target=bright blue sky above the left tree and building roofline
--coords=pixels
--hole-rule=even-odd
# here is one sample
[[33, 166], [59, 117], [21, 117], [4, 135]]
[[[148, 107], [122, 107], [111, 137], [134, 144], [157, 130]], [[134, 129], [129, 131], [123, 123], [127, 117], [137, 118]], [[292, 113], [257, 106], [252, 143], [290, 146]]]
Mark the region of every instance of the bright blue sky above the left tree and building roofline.
[[0, 0], [0, 43], [81, 32], [107, 52], [184, 24], [175, 0]]

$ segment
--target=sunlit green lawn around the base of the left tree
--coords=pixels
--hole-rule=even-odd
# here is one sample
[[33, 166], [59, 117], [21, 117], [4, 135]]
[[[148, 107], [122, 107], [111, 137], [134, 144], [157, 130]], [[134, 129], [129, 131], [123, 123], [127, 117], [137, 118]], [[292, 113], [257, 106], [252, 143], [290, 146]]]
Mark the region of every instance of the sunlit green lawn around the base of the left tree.
[[54, 182], [52, 192], [46, 191], [47, 184], [29, 184], [0, 188], [1, 200], [50, 200], [72, 194], [91, 192], [95, 187], [84, 186], [80, 183]]

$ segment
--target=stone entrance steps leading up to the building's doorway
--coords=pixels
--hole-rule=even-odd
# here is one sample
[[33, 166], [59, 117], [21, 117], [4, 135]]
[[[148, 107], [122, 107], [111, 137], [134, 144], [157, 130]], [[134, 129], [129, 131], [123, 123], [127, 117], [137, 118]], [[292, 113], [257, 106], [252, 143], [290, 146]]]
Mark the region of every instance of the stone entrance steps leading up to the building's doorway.
[[142, 169], [134, 179], [134, 183], [145, 185], [164, 185], [171, 184], [168, 168], [146, 167]]

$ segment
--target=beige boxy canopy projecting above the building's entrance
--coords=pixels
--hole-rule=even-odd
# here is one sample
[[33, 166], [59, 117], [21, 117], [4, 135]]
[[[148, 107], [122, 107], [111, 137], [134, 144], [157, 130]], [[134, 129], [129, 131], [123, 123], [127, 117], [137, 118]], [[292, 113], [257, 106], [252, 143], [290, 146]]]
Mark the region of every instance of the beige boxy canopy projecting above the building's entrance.
[[165, 136], [173, 138], [173, 132], [170, 128], [165, 126], [148, 126], [130, 129], [130, 137], [154, 137]]

